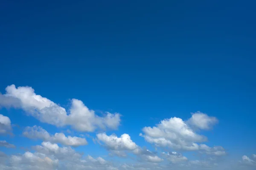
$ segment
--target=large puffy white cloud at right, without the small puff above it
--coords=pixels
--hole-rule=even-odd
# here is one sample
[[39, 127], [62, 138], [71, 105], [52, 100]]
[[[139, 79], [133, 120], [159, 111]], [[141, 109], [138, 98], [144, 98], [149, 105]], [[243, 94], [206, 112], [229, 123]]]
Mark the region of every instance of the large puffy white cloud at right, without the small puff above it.
[[173, 117], [164, 119], [154, 127], [144, 127], [143, 136], [149, 143], [161, 147], [172, 147], [180, 150], [198, 150], [195, 142], [204, 142], [205, 136], [195, 133], [182, 119]]

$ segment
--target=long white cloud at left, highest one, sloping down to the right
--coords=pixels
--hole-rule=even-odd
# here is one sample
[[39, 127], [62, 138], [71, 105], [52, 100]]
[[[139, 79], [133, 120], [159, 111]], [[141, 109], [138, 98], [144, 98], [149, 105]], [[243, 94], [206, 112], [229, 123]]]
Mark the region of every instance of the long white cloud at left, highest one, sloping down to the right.
[[31, 87], [18, 87], [10, 85], [6, 87], [6, 94], [0, 94], [0, 105], [4, 107], [22, 108], [29, 115], [41, 122], [55, 126], [71, 125], [79, 131], [92, 132], [96, 128], [116, 129], [120, 124], [119, 113], [106, 113], [98, 116], [93, 110], [89, 110], [82, 101], [72, 99], [70, 114], [61, 106], [51, 100], [35, 94]]

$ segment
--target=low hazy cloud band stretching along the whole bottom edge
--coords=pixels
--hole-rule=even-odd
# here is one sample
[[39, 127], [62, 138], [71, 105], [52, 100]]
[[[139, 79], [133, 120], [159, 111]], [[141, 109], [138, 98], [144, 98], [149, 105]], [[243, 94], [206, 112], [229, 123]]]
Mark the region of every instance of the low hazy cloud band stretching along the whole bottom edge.
[[[138, 148], [137, 153], [143, 157], [143, 161], [134, 163], [119, 164], [107, 161], [102, 157], [88, 155], [84, 157], [82, 153], [76, 152], [71, 147], [60, 147], [51, 142], [42, 142], [41, 145], [33, 147], [30, 152], [23, 154], [6, 156], [0, 152], [1, 170], [233, 170], [232, 168], [219, 168], [215, 163], [206, 160], [187, 161], [180, 153], [163, 153], [166, 159], [172, 164], [165, 164], [163, 159], [156, 156], [149, 150]], [[134, 150], [135, 152], [135, 150]], [[3, 157], [4, 161], [1, 157]], [[160, 163], [161, 162], [161, 163]], [[179, 164], [178, 164], [179, 163]], [[227, 167], [230, 165], [227, 165]], [[243, 168], [249, 170], [248, 168]], [[239, 170], [239, 169], [234, 169]], [[251, 169], [250, 169], [251, 170]]]

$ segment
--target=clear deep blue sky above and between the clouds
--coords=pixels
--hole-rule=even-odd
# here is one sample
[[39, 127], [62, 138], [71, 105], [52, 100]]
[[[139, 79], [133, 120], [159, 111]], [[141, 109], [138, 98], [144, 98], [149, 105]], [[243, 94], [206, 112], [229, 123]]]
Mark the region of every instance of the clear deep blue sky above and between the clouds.
[[[63, 107], [76, 98], [98, 113], [119, 112], [122, 125], [113, 132], [144, 145], [143, 127], [201, 111], [219, 119], [207, 132], [209, 145], [239, 158], [255, 153], [255, 6], [252, 0], [1, 1], [0, 92], [28, 85]], [[57, 129], [20, 110], [0, 112], [20, 125], [16, 136], [35, 124]], [[10, 143], [33, 143], [18, 138]]]

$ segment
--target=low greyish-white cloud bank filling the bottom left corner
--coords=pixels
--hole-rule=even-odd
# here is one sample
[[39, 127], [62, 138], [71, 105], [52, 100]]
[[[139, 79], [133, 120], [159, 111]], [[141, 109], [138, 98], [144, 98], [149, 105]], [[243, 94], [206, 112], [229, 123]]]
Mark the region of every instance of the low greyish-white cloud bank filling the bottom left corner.
[[59, 147], [58, 144], [42, 142], [33, 147], [36, 151], [6, 156], [0, 152], [1, 170], [118, 170], [112, 162], [102, 157], [94, 159], [76, 152], [71, 147]]

